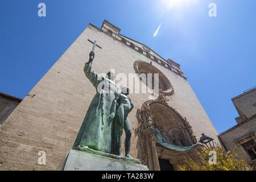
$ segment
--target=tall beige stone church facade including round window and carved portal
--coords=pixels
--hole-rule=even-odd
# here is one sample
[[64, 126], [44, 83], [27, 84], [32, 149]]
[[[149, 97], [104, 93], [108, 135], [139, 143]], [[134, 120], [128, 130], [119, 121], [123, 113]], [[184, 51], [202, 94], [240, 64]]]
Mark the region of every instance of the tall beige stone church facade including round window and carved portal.
[[[115, 74], [158, 73], [159, 95], [131, 93], [134, 109], [131, 122], [131, 156], [142, 160], [150, 170], [164, 163], [177, 165], [192, 157], [202, 133], [218, 142], [217, 131], [205, 113], [180, 65], [164, 60], [146, 45], [120, 34], [121, 30], [104, 20], [101, 28], [89, 24], [79, 38], [34, 86], [3, 123], [0, 131], [1, 169], [55, 170], [75, 142], [86, 111], [96, 93], [83, 68], [97, 40], [93, 70]], [[131, 86], [131, 85], [129, 85]], [[133, 88], [134, 89], [134, 88]], [[159, 142], [159, 136], [164, 143]], [[123, 134], [123, 140], [125, 135]], [[192, 146], [192, 147], [191, 147]], [[122, 150], [124, 147], [122, 146]], [[46, 164], [38, 164], [39, 151], [46, 152]], [[167, 165], [168, 166], [168, 165]]]

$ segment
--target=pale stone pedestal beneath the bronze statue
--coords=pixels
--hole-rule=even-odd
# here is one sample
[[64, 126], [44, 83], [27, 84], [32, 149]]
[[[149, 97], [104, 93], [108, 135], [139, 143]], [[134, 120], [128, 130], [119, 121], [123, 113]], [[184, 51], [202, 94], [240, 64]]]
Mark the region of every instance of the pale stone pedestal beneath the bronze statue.
[[[100, 152], [103, 153], [103, 152]], [[106, 153], [104, 153], [106, 154]], [[118, 159], [119, 158], [119, 159]], [[131, 162], [128, 158], [112, 154], [70, 150], [57, 171], [148, 171], [147, 166]]]

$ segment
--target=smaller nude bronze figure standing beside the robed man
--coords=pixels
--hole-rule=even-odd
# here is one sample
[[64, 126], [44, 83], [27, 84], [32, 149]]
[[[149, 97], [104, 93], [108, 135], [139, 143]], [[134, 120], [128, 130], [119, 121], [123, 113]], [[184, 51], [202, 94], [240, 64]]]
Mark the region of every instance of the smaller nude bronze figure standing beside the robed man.
[[[130, 156], [130, 143], [131, 143], [131, 126], [130, 121], [128, 119], [128, 114], [133, 109], [133, 102], [131, 102], [130, 98], [127, 97], [130, 89], [128, 87], [123, 87], [122, 92], [118, 93], [115, 97], [111, 110], [109, 119], [113, 120], [113, 132], [112, 132], [112, 151], [115, 155], [121, 154], [121, 144], [122, 144], [122, 131], [125, 129], [125, 157], [131, 158]], [[117, 111], [116, 110], [117, 107]]]

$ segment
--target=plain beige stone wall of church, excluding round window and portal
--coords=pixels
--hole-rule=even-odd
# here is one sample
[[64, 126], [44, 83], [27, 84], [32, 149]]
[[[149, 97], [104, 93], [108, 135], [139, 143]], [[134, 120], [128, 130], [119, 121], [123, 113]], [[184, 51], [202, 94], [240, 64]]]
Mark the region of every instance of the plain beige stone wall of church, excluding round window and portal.
[[[114, 68], [116, 74], [128, 75], [134, 73], [135, 60], [148, 63], [151, 61], [119, 40], [89, 25], [3, 124], [0, 131], [0, 168], [53, 170], [71, 149], [96, 93], [83, 72], [93, 46], [87, 39], [97, 40], [97, 44], [102, 47], [96, 47], [93, 60], [93, 69], [97, 73], [107, 73]], [[152, 64], [169, 78], [174, 87], [174, 94], [168, 97], [168, 104], [183, 117], [187, 117], [197, 139], [201, 133], [205, 133], [217, 142], [217, 131], [188, 82], [162, 65], [154, 62]], [[139, 144], [138, 137], [134, 134], [138, 123], [135, 113], [148, 96], [130, 94], [130, 98], [134, 103], [134, 109], [129, 115], [133, 130], [131, 156], [137, 158]], [[42, 150], [46, 151], [46, 165], [38, 164], [38, 152]]]

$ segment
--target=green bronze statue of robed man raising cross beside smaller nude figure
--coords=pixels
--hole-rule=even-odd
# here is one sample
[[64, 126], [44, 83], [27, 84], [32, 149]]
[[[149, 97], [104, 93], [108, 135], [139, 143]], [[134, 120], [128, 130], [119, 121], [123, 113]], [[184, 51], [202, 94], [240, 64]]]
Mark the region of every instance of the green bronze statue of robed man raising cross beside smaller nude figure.
[[133, 109], [133, 103], [127, 97], [130, 90], [125, 87], [122, 88], [122, 93], [118, 93], [113, 72], [108, 72], [106, 77], [102, 77], [93, 71], [94, 49], [100, 46], [96, 41], [92, 43], [93, 49], [89, 54], [89, 61], [85, 63], [84, 73], [96, 88], [96, 94], [90, 103], [73, 148], [90, 148], [121, 156], [121, 136], [124, 129], [125, 156], [131, 158], [131, 126], [128, 114]]

